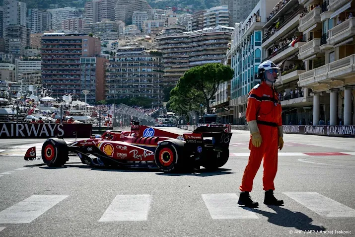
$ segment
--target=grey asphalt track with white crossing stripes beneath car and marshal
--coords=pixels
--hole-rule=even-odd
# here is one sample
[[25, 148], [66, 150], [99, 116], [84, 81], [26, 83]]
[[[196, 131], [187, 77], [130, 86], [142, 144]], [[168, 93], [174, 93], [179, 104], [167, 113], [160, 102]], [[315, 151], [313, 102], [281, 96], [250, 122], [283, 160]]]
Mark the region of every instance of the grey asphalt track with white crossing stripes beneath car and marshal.
[[275, 179], [285, 204], [263, 204], [261, 166], [251, 193], [259, 208], [249, 209], [237, 204], [249, 133], [232, 132], [222, 168], [183, 174], [97, 169], [74, 157], [50, 168], [23, 159], [44, 140], [0, 140], [0, 236], [355, 236], [354, 139], [285, 134]]

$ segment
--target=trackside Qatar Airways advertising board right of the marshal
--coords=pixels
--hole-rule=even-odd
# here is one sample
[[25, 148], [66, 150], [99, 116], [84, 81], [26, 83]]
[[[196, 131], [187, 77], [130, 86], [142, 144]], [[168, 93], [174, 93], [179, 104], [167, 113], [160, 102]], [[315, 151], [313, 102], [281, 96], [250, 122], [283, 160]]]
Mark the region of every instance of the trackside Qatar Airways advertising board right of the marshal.
[[284, 133], [355, 137], [355, 126], [283, 126]]

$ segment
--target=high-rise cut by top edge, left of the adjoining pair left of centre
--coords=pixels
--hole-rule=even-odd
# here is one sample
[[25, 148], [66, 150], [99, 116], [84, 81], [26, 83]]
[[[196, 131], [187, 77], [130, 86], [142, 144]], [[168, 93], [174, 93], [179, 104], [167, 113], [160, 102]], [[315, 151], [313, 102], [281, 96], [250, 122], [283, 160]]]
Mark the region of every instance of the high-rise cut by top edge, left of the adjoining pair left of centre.
[[85, 3], [84, 18], [92, 23], [102, 20], [115, 20], [115, 0], [93, 0]]

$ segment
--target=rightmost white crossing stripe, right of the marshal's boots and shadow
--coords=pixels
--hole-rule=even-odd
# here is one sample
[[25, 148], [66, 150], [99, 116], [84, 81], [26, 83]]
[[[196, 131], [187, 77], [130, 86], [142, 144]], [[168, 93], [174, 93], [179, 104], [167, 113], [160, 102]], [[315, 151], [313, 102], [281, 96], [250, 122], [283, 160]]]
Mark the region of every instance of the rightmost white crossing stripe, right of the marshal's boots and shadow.
[[355, 217], [355, 210], [317, 192], [284, 193], [322, 217]]

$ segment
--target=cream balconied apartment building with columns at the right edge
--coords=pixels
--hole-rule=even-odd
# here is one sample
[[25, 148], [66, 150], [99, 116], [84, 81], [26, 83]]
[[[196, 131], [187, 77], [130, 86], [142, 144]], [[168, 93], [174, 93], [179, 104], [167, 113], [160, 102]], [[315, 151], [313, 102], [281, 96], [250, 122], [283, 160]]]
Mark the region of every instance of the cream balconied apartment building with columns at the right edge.
[[304, 13], [298, 29], [307, 43], [299, 49], [298, 57], [303, 60], [306, 72], [299, 75], [298, 86], [311, 91], [309, 96], [313, 98], [305, 116], [297, 109], [297, 121], [355, 125], [355, 2], [299, 2], [304, 4]]

